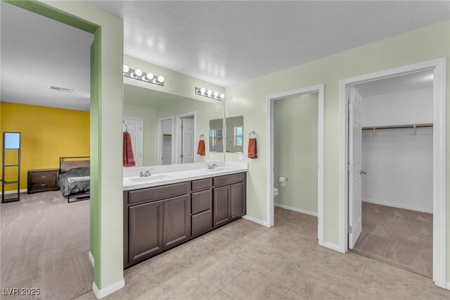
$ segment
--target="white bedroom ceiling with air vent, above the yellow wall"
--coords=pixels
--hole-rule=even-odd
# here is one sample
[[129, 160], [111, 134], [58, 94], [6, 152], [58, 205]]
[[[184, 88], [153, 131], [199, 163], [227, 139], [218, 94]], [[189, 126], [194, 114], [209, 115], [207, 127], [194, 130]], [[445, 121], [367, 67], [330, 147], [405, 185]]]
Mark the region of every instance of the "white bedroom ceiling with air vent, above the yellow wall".
[[89, 110], [94, 36], [4, 1], [0, 10], [1, 101]]

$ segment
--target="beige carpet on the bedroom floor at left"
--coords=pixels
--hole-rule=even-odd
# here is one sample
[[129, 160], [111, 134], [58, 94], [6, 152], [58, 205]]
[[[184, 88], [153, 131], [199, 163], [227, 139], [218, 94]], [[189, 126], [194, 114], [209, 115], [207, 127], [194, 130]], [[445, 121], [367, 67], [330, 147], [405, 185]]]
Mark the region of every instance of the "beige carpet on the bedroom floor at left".
[[59, 191], [21, 196], [0, 205], [1, 288], [41, 290], [24, 299], [73, 299], [91, 290], [89, 201], [68, 204]]

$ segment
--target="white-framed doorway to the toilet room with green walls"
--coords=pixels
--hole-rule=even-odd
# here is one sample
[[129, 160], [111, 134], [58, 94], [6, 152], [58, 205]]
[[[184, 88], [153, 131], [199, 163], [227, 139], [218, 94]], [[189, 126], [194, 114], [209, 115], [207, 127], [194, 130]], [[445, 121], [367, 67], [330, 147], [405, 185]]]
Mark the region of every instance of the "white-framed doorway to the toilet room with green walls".
[[[286, 218], [292, 216], [292, 214], [289, 215], [289, 211], [317, 216], [314, 226], [311, 226], [317, 227], [317, 233], [314, 232], [312, 235], [319, 239], [321, 245], [323, 245], [324, 89], [324, 85], [316, 85], [268, 96], [269, 134], [266, 144], [267, 153], [269, 153], [268, 169], [272, 170], [267, 176], [267, 225], [269, 227], [275, 225], [275, 206], [281, 208], [277, 208], [278, 211], [288, 214], [285, 215]], [[300, 111], [302, 108], [308, 110], [303, 116], [302, 113], [305, 111]], [[308, 113], [314, 115], [308, 115]], [[307, 123], [304, 123], [304, 127], [299, 130], [302, 118]], [[298, 147], [296, 149], [290, 142], [290, 137], [292, 139], [303, 137], [308, 139], [309, 144], [314, 145], [304, 145], [297, 139]], [[305, 161], [299, 151], [306, 151], [309, 154], [307, 158], [309, 161]], [[293, 166], [294, 168], [292, 168]], [[298, 172], [298, 168], [303, 169]], [[301, 182], [302, 176], [315, 177], [309, 178], [314, 183], [311, 183], [312, 187], [308, 187], [308, 193], [304, 189], [300, 189], [300, 191], [295, 189], [304, 184]], [[283, 177], [287, 177], [287, 180], [283, 180]], [[276, 189], [278, 189], [278, 195], [276, 195]], [[287, 196], [287, 198], [282, 199], [283, 196]], [[307, 201], [306, 198], [308, 198]], [[279, 218], [283, 218], [278, 212], [277, 215]]]

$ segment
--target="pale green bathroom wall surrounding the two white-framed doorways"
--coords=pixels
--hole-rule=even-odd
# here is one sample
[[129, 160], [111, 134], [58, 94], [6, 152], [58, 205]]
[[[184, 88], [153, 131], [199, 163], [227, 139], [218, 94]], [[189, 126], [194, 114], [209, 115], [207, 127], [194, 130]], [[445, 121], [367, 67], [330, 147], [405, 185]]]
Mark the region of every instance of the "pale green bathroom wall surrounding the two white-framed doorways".
[[[266, 97], [302, 87], [325, 84], [325, 216], [324, 239], [339, 244], [339, 80], [402, 65], [419, 63], [450, 54], [450, 20], [421, 27], [401, 35], [359, 46], [354, 49], [297, 65], [293, 68], [258, 77], [226, 87], [226, 116], [243, 115], [245, 136], [257, 130], [259, 149], [256, 160], [249, 162], [248, 215], [266, 220]], [[447, 63], [448, 65], [448, 63]], [[447, 91], [450, 91], [450, 68], [447, 68]], [[449, 99], [447, 92], [447, 99]], [[448, 100], [447, 100], [448, 101]], [[447, 106], [449, 115], [450, 106]], [[450, 143], [450, 122], [447, 122], [447, 143]], [[248, 141], [245, 140], [244, 149]], [[448, 144], [449, 145], [449, 144]], [[450, 157], [450, 147], [447, 156]], [[227, 154], [226, 160], [238, 157]], [[450, 159], [447, 160], [450, 162]], [[447, 172], [449, 172], [449, 164]], [[450, 189], [450, 176], [447, 189]], [[448, 196], [447, 196], [448, 197]], [[450, 201], [447, 198], [447, 251], [450, 257]], [[450, 260], [447, 274], [450, 277]]]

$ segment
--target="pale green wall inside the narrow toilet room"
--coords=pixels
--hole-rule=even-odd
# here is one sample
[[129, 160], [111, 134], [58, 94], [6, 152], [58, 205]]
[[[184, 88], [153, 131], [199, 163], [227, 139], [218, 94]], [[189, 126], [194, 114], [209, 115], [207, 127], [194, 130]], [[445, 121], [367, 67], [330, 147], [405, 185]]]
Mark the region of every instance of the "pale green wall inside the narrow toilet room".
[[[274, 103], [275, 203], [317, 213], [317, 122], [319, 94]], [[279, 177], [288, 177], [285, 187]]]

